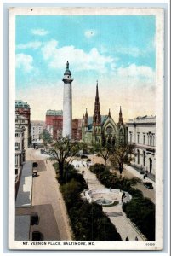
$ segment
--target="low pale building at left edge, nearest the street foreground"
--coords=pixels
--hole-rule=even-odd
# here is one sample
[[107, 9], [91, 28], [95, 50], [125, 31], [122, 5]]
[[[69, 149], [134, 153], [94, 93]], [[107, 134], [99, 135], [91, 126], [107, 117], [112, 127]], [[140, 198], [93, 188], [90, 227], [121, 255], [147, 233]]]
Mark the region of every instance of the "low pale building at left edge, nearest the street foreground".
[[18, 191], [20, 174], [23, 163], [25, 162], [24, 132], [24, 126], [15, 126], [15, 195]]

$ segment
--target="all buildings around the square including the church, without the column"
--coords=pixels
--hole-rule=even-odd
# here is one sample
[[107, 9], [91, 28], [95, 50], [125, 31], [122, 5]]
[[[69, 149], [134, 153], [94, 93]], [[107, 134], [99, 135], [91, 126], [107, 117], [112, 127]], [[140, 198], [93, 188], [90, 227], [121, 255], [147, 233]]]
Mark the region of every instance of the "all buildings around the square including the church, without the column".
[[[48, 110], [44, 121], [31, 121], [31, 108], [26, 102], [15, 102], [15, 174], [20, 176], [20, 169], [25, 161], [25, 150], [31, 143], [41, 143], [43, 129], [51, 137], [62, 136], [63, 111]], [[85, 143], [135, 143], [136, 157], [134, 166], [155, 175], [156, 153], [156, 118], [154, 116], [137, 117], [123, 122], [120, 108], [117, 123], [111, 117], [111, 111], [100, 114], [98, 84], [94, 101], [94, 113], [88, 116], [86, 109], [83, 119], [72, 119], [71, 137]]]

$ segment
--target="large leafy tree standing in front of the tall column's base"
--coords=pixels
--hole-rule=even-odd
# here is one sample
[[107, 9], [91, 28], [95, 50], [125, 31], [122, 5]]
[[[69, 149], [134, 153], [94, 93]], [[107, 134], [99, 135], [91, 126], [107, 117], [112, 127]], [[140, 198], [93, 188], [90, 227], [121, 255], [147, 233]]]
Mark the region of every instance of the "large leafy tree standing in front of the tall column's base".
[[61, 137], [54, 144], [49, 153], [53, 160], [56, 160], [59, 166], [60, 180], [62, 181], [64, 175], [64, 167], [71, 166], [71, 162], [76, 156], [77, 152], [83, 148], [82, 143], [72, 141], [69, 137]]

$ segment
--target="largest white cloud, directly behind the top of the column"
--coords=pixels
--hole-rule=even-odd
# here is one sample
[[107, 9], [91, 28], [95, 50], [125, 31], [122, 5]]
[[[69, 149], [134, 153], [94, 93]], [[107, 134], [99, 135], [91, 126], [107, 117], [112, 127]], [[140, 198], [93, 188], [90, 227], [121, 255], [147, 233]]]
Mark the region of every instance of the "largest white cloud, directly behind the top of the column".
[[106, 73], [108, 66], [114, 65], [111, 56], [101, 55], [98, 49], [93, 48], [88, 53], [83, 49], [76, 49], [73, 45], [58, 48], [55, 40], [47, 42], [42, 47], [43, 58], [48, 61], [48, 67], [61, 68], [61, 63], [69, 61], [75, 71], [94, 70]]

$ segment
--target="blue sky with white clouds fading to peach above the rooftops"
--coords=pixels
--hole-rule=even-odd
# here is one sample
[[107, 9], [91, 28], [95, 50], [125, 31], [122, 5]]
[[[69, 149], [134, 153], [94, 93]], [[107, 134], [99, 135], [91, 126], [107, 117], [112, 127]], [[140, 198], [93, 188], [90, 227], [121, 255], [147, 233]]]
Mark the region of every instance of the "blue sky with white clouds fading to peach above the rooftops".
[[31, 120], [63, 108], [66, 61], [72, 83], [72, 117], [94, 113], [96, 81], [100, 113], [117, 122], [155, 115], [155, 16], [16, 17], [16, 99], [31, 106]]

